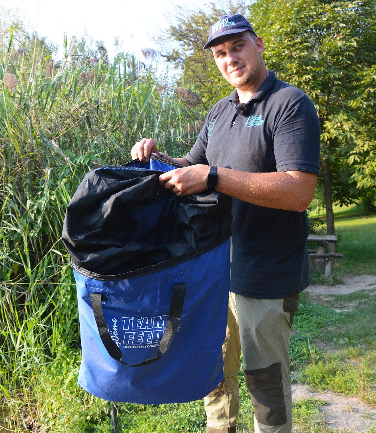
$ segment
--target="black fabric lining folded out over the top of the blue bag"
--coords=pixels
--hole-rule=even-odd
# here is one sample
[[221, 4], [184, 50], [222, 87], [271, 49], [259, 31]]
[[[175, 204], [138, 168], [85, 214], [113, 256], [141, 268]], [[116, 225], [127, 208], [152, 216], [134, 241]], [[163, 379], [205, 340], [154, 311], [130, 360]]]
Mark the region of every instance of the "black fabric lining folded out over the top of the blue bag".
[[215, 191], [177, 197], [159, 184], [162, 172], [123, 165], [85, 176], [62, 233], [77, 272], [99, 280], [147, 274], [231, 236], [230, 197]]

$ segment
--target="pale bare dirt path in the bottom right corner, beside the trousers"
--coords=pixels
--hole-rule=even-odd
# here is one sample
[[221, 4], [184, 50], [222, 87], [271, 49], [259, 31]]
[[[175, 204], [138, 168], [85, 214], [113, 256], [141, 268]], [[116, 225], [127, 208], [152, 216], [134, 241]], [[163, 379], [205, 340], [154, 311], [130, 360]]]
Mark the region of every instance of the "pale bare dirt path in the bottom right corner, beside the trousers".
[[376, 425], [376, 406], [363, 403], [357, 397], [344, 397], [331, 391], [310, 391], [305, 385], [292, 384], [292, 401], [301, 398], [320, 398], [328, 402], [321, 406], [325, 427], [335, 430], [366, 432]]

